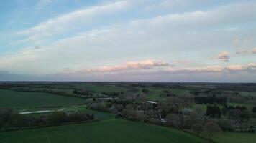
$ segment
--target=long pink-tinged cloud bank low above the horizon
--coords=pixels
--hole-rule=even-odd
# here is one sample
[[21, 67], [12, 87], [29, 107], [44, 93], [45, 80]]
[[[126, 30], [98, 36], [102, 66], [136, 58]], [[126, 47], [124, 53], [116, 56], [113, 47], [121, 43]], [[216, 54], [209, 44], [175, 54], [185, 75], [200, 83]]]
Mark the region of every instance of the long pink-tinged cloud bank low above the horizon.
[[[167, 69], [157, 69], [157, 71], [152, 70], [143, 70], [140, 69], [154, 69], [159, 67], [166, 67], [169, 66]], [[161, 60], [145, 60], [145, 61], [130, 61], [126, 64], [119, 64], [115, 66], [99, 66], [93, 69], [84, 69], [84, 70], [77, 70], [74, 71], [73, 69], [66, 68], [63, 74], [97, 74], [97, 73], [127, 73], [129, 74], [201, 74], [201, 73], [220, 73], [220, 74], [227, 74], [227, 73], [235, 73], [235, 72], [255, 72], [256, 71], [256, 63], [250, 64], [230, 64], [228, 66], [191, 66], [186, 67], [183, 69], [175, 68], [175, 66], [170, 66], [165, 61]], [[140, 71], [139, 73], [137, 71]]]

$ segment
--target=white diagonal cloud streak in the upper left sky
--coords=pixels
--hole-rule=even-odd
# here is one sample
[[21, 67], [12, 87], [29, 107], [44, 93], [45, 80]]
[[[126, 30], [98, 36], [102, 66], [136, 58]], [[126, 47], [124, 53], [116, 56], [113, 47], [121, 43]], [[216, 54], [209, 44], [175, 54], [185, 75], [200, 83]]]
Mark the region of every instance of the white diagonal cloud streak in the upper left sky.
[[[43, 5], [50, 2], [51, 0], [42, 0], [39, 4]], [[112, 14], [116, 11], [123, 11], [127, 7], [129, 7], [128, 1], [115, 1], [72, 11], [68, 14], [48, 19], [32, 28], [19, 31], [17, 35], [24, 36], [25, 38], [16, 41], [16, 43], [42, 43], [44, 39], [58, 36], [70, 30], [81, 29], [81, 27], [96, 19], [97, 16], [106, 16], [106, 14]]]

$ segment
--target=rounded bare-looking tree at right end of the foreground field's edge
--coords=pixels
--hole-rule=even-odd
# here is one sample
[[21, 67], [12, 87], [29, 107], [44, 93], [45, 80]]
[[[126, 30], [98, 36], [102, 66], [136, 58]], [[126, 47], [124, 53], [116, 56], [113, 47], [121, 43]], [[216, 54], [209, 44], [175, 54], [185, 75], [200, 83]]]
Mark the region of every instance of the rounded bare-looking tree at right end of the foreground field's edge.
[[221, 129], [218, 124], [215, 122], [206, 122], [203, 127], [203, 132], [206, 135], [206, 137], [213, 142], [213, 137], [216, 134], [216, 132], [220, 132]]

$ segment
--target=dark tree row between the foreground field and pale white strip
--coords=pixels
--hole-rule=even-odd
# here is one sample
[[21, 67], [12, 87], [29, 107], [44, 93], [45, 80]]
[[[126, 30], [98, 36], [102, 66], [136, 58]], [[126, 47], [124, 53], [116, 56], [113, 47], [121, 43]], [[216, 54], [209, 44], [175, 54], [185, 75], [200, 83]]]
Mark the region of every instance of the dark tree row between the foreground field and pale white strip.
[[67, 124], [68, 122], [92, 121], [93, 119], [95, 119], [93, 114], [81, 112], [69, 115], [65, 112], [52, 112], [47, 116], [29, 117], [18, 114], [12, 109], [0, 109], [0, 131]]

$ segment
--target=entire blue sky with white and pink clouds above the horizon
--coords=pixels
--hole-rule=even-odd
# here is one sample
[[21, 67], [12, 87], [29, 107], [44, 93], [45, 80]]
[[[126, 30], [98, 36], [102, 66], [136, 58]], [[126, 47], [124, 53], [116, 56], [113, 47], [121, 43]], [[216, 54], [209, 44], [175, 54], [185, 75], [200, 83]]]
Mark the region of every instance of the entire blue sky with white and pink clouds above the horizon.
[[0, 81], [256, 82], [255, 0], [0, 2]]

